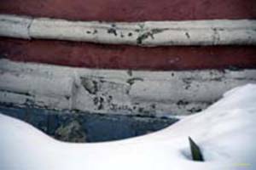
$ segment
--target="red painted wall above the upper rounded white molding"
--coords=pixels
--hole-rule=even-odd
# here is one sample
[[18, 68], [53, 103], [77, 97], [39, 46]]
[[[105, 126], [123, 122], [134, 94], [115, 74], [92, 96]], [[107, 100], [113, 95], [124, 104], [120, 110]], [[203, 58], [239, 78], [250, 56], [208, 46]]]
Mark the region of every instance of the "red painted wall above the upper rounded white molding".
[[108, 21], [256, 19], [256, 1], [1, 0], [0, 13]]

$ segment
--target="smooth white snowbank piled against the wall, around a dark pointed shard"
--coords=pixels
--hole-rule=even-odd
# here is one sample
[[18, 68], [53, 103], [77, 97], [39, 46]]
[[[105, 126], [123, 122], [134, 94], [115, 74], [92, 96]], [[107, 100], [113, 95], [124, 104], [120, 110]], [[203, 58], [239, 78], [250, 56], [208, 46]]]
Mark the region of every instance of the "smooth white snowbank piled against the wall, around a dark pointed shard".
[[[235, 88], [156, 133], [115, 142], [69, 144], [0, 114], [1, 170], [256, 169], [256, 85]], [[206, 161], [191, 161], [191, 137]]]

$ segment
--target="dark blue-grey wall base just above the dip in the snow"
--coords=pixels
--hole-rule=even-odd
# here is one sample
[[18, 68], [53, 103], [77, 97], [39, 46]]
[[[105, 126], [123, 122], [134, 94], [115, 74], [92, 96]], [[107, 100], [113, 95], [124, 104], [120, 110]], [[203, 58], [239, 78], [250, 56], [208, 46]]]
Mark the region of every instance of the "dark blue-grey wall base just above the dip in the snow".
[[55, 139], [68, 142], [126, 139], [152, 133], [177, 122], [175, 118], [50, 111], [29, 106], [0, 105], [0, 112], [28, 122]]

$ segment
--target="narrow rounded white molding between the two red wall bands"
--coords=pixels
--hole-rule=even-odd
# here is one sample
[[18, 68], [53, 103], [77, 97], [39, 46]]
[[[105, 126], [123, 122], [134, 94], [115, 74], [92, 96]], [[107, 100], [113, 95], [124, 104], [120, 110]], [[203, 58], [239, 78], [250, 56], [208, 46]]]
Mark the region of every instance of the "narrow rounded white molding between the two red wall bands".
[[255, 45], [256, 20], [101, 22], [0, 14], [0, 36], [145, 47]]

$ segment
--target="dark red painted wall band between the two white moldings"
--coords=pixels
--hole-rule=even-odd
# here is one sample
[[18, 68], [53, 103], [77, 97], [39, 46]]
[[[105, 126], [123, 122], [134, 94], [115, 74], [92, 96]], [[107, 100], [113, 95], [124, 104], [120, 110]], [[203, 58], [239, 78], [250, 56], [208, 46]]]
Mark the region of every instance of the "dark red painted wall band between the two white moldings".
[[19, 61], [112, 69], [256, 68], [256, 48], [249, 46], [141, 48], [0, 38], [0, 54]]

